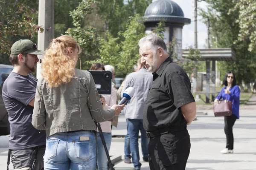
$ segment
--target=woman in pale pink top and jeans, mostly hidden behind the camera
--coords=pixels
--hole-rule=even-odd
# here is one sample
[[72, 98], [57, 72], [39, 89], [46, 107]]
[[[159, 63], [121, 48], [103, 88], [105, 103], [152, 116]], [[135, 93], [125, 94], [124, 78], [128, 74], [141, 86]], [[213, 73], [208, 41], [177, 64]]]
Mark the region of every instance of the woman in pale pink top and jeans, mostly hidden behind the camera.
[[[91, 67], [90, 70], [95, 70], [95, 71], [103, 71], [105, 70], [105, 67], [101, 63], [94, 63]], [[111, 89], [111, 94], [102, 94], [101, 96], [101, 101], [102, 105], [104, 107], [104, 110], [107, 110], [111, 108], [111, 106], [116, 104], [116, 90], [113, 88]], [[118, 117], [118, 116], [116, 116]], [[102, 122], [100, 123], [100, 126], [102, 128], [103, 136], [106, 142], [106, 146], [108, 148], [108, 151], [110, 150], [111, 146], [111, 139], [112, 139], [112, 134], [111, 134], [111, 122]], [[98, 169], [99, 170], [108, 170], [108, 158], [105, 154], [105, 149], [102, 144], [102, 140], [100, 138], [99, 133], [97, 133], [97, 156], [98, 156]]]

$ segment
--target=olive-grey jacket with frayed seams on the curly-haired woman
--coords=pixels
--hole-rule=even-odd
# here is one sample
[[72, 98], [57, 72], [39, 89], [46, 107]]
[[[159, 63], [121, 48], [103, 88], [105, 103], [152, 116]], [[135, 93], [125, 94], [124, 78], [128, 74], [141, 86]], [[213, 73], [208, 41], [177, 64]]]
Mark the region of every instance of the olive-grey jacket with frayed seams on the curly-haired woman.
[[35, 94], [32, 125], [51, 136], [58, 132], [96, 130], [95, 122], [113, 119], [115, 111], [104, 111], [99, 94], [88, 71], [76, 69], [67, 84], [49, 88], [39, 79]]

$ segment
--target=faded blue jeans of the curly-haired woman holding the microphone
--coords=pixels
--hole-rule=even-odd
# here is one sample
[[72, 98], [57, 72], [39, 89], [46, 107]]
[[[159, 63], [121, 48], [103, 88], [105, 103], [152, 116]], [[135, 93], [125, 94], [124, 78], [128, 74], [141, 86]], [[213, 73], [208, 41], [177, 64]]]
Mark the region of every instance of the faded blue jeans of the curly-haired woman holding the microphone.
[[[79, 140], [80, 136], [86, 137]], [[95, 168], [96, 139], [93, 131], [55, 133], [46, 139], [44, 170], [95, 170]]]

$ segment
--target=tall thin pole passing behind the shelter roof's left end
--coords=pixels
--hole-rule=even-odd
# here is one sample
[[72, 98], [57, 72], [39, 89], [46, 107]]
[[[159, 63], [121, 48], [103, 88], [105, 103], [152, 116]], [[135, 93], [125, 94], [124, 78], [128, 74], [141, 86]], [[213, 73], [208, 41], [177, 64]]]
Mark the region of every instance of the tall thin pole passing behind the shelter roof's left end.
[[[194, 39], [194, 44], [195, 44], [195, 49], [198, 48], [198, 44], [197, 44], [197, 0], [195, 0], [195, 39]], [[195, 61], [195, 65], [197, 65], [197, 61]], [[194, 70], [194, 81], [193, 81], [193, 88], [192, 88], [192, 92], [196, 92], [197, 89], [197, 69], [195, 68]]]

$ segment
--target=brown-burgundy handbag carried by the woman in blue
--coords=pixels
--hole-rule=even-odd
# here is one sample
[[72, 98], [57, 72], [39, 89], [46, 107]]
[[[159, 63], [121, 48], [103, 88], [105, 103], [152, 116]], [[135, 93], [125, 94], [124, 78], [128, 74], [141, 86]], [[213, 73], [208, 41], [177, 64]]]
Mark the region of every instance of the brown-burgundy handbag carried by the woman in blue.
[[[221, 96], [219, 97], [219, 99]], [[231, 116], [232, 115], [232, 102], [227, 100], [227, 94], [226, 99], [221, 100], [218, 102], [214, 102], [213, 104], [213, 112], [214, 116]]]

